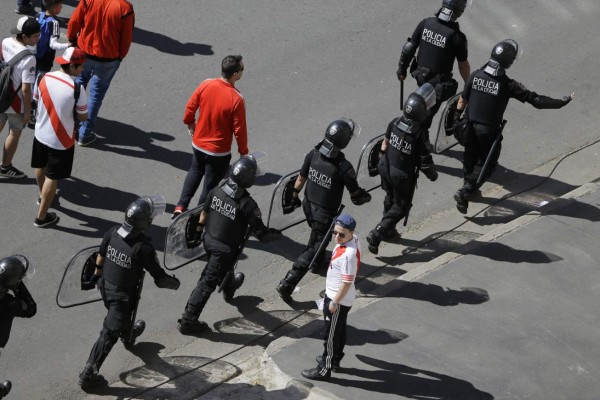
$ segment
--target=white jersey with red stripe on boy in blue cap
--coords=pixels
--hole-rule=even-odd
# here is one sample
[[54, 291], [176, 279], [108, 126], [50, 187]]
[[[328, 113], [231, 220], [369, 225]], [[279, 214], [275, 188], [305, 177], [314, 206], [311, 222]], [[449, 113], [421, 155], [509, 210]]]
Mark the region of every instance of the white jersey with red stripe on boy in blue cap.
[[325, 281], [325, 293], [333, 299], [342, 285], [342, 282], [352, 282], [350, 290], [340, 304], [351, 307], [356, 297], [354, 279], [360, 266], [360, 241], [356, 235], [344, 244], [334, 247], [331, 254], [331, 262], [327, 269], [327, 280]]

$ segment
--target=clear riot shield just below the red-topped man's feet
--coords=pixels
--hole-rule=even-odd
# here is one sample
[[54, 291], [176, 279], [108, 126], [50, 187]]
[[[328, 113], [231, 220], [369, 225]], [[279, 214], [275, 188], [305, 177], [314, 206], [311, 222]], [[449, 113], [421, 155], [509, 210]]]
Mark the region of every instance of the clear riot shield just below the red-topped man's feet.
[[190, 246], [189, 240], [196, 230], [203, 205], [192, 208], [177, 216], [167, 228], [165, 235], [165, 268], [174, 271], [206, 254], [204, 246]]

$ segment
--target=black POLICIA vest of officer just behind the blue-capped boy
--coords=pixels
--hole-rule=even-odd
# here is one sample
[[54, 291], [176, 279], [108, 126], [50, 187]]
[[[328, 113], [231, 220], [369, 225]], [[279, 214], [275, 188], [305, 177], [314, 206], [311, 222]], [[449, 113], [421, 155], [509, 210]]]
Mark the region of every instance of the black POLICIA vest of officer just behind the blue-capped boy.
[[344, 179], [339, 168], [344, 160], [342, 154], [330, 159], [313, 150], [306, 182], [308, 201], [332, 213], [337, 211], [344, 195]]

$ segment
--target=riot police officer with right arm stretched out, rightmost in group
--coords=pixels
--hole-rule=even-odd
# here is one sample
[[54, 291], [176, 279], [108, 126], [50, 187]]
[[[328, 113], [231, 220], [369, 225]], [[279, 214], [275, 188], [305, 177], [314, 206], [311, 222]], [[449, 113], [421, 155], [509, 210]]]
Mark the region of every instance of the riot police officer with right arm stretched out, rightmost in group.
[[[456, 208], [465, 214], [469, 196], [492, 175], [500, 157], [502, 120], [508, 101], [515, 98], [535, 108], [562, 108], [573, 95], [553, 99], [527, 90], [523, 84], [509, 78], [506, 70], [522, 54], [517, 42], [506, 39], [494, 46], [490, 60], [471, 74], [458, 100], [454, 119], [458, 121], [463, 110], [466, 112], [463, 155], [464, 185], [454, 195]], [[494, 142], [496, 143], [494, 145]], [[493, 149], [493, 153], [491, 150]], [[488, 165], [482, 173], [486, 159]], [[478, 177], [481, 174], [481, 179]], [[479, 182], [478, 182], [479, 180]]]

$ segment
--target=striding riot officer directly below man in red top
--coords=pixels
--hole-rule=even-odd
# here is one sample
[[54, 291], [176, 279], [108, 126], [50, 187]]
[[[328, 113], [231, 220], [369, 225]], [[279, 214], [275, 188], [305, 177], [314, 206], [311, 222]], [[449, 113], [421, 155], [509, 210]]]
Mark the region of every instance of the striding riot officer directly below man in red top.
[[177, 329], [184, 334], [196, 334], [208, 328], [198, 320], [210, 295], [221, 285], [225, 301], [233, 298], [242, 285], [244, 275], [233, 273], [248, 229], [261, 242], [278, 239], [281, 233], [268, 229], [256, 201], [246, 189], [254, 184], [256, 175], [264, 173], [264, 154], [243, 156], [233, 164], [228, 180], [212, 189], [200, 214], [196, 240], [203, 237], [208, 261], [192, 291]]

